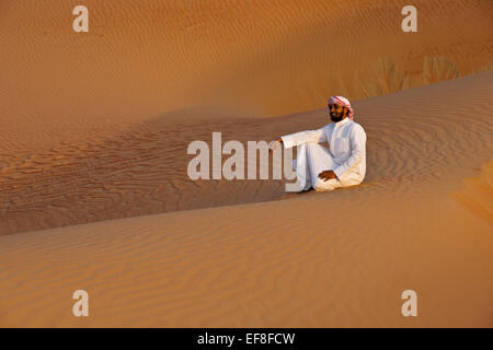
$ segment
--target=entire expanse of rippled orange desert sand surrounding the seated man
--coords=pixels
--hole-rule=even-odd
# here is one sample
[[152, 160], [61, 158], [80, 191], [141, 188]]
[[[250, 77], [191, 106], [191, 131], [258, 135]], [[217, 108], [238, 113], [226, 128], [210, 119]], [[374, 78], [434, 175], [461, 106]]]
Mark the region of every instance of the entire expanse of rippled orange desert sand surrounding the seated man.
[[[414, 2], [405, 34], [385, 1], [88, 0], [81, 35], [2, 1], [0, 326], [492, 327], [493, 7]], [[359, 186], [187, 178], [191, 141], [322, 127], [334, 93]]]

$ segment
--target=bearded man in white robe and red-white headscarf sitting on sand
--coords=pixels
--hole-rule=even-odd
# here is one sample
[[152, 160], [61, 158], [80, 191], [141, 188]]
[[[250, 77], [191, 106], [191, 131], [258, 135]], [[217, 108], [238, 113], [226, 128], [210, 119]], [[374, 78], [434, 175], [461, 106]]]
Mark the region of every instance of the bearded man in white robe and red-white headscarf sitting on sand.
[[[298, 147], [293, 167], [305, 188], [317, 191], [358, 185], [366, 173], [366, 132], [353, 121], [353, 108], [343, 96], [329, 100], [332, 121], [318, 130], [300, 131], [278, 138], [285, 148]], [[330, 150], [318, 142], [326, 141]]]

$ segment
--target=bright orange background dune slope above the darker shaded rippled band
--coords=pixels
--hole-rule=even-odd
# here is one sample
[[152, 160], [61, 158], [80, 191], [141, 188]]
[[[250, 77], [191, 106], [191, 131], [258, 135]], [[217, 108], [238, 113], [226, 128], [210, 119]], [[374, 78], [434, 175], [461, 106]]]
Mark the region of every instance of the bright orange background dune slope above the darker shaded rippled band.
[[77, 4], [2, 1], [3, 150], [114, 136], [191, 107], [300, 113], [335, 91], [355, 101], [493, 65], [489, 0], [416, 0], [412, 34], [403, 4], [385, 0], [87, 0], [87, 34], [72, 31]]

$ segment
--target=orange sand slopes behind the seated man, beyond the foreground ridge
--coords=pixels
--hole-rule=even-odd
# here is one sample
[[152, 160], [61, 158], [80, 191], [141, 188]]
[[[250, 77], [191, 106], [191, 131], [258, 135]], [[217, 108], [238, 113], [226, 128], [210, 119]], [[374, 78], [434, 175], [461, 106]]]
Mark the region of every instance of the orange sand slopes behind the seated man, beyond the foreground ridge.
[[[491, 1], [415, 1], [417, 33], [389, 1], [88, 0], [83, 34], [76, 4], [1, 3], [0, 234], [276, 198], [276, 184], [187, 182], [183, 150], [211, 130], [321, 125], [307, 110], [334, 93], [354, 102], [493, 67]], [[358, 106], [362, 121], [382, 114], [369, 112]]]

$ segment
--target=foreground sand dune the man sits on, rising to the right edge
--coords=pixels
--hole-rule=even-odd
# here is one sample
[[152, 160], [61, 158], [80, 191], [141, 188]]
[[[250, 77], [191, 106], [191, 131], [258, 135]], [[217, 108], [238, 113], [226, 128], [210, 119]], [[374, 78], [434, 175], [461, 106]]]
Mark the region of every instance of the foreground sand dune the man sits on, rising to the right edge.
[[[491, 327], [492, 84], [483, 73], [358, 102], [369, 172], [354, 188], [2, 236], [0, 325]], [[237, 200], [217, 189], [193, 196]], [[71, 315], [79, 289], [87, 318]], [[408, 289], [417, 318], [401, 315]]]

